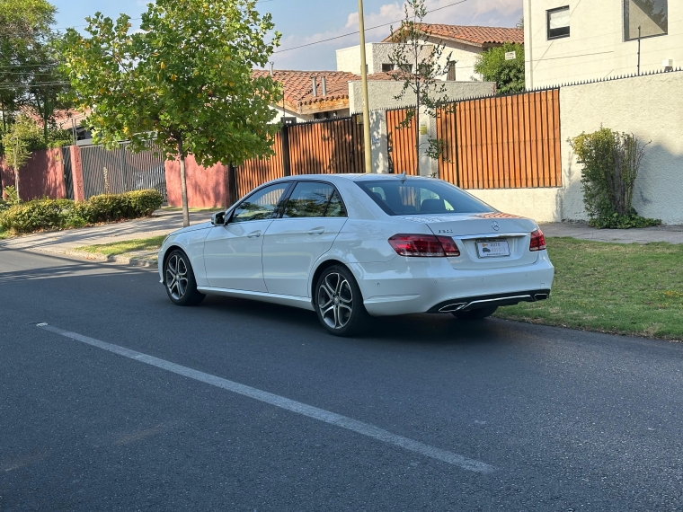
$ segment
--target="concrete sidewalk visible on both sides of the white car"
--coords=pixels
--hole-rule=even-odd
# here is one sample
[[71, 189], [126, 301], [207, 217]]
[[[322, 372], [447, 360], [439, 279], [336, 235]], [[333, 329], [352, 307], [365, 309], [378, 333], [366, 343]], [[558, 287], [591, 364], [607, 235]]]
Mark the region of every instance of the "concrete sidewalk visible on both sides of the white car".
[[[191, 224], [208, 222], [210, 211], [190, 214]], [[581, 223], [541, 224], [546, 236], [569, 236], [581, 240], [613, 243], [683, 243], [683, 225], [663, 225], [643, 229], [594, 229]], [[0, 241], [0, 251], [4, 249], [47, 252], [62, 256], [72, 256], [85, 260], [116, 261], [146, 267], [155, 267], [155, 252], [129, 252], [122, 256], [106, 256], [90, 252], [80, 252], [85, 245], [125, 242], [139, 238], [162, 236], [182, 227], [182, 212], [159, 210], [149, 218], [130, 220], [116, 224], [68, 229], [49, 233], [28, 234]]]

